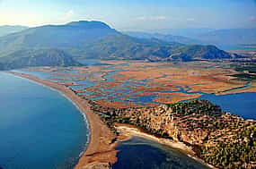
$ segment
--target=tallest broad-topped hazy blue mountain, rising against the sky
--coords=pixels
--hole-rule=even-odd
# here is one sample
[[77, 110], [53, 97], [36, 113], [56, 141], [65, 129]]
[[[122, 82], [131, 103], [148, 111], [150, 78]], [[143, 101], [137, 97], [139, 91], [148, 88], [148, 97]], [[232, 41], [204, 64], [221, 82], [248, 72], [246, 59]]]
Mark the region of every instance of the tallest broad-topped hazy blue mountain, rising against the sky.
[[101, 21], [74, 21], [46, 25], [0, 38], [0, 53], [24, 48], [83, 48], [85, 44], [117, 33]]

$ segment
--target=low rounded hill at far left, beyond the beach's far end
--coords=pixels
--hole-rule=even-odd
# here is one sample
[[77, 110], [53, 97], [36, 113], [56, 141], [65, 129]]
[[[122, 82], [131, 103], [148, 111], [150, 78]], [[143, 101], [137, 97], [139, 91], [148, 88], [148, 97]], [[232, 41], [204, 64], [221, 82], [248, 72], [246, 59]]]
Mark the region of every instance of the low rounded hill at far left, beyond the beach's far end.
[[58, 49], [21, 50], [0, 57], [0, 70], [26, 66], [77, 66], [71, 55]]

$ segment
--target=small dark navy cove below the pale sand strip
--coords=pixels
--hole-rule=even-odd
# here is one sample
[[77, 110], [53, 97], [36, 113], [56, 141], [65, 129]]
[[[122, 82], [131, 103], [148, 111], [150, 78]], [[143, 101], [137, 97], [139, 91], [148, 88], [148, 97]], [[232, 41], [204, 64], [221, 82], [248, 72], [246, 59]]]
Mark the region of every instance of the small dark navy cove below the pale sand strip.
[[113, 169], [204, 169], [196, 160], [153, 141], [133, 138], [117, 148], [119, 161]]

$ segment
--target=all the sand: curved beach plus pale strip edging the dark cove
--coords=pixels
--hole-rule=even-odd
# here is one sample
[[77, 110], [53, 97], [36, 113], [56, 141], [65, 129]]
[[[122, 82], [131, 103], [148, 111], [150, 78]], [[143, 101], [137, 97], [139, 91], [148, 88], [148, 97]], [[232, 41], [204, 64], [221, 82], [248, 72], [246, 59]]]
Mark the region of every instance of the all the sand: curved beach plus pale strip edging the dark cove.
[[[115, 149], [120, 141], [130, 139], [132, 137], [141, 137], [145, 139], [150, 139], [160, 144], [163, 144], [167, 147], [177, 149], [181, 153], [190, 156], [199, 163], [207, 165], [209, 168], [216, 168], [213, 165], [208, 165], [202, 159], [195, 156], [195, 152], [185, 144], [181, 142], [174, 142], [170, 139], [161, 139], [157, 138], [152, 134], [146, 133], [136, 126], [129, 124], [120, 124], [115, 123], [114, 126], [119, 131], [119, 136], [115, 136], [110, 129], [102, 122], [98, 114], [93, 113], [91, 110], [91, 105], [87, 100], [77, 96], [74, 91], [67, 88], [65, 85], [57, 84], [56, 82], [49, 80], [41, 80], [33, 75], [24, 74], [20, 72], [6, 72], [13, 74], [15, 76], [32, 80], [39, 83], [40, 85], [46, 86], [50, 89], [57, 90], [59, 93], [67, 97], [77, 108], [83, 113], [86, 117], [86, 122], [89, 125], [90, 129], [90, 138], [87, 148], [84, 150], [83, 155], [80, 156], [79, 162], [75, 165], [75, 169], [84, 169], [84, 168], [110, 168], [110, 165], [113, 165], [117, 162], [117, 153]], [[117, 139], [112, 143], [113, 139]], [[82, 154], [81, 153], [81, 154]]]

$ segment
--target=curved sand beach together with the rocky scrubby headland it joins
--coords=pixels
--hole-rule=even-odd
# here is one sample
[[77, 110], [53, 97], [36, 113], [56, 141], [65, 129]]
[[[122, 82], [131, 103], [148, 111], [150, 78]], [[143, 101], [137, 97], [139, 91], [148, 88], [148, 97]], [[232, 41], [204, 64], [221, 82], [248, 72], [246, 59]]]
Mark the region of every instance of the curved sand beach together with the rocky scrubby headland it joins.
[[56, 89], [86, 115], [90, 143], [75, 169], [110, 168], [118, 160], [115, 150], [118, 142], [132, 136], [180, 149], [210, 168], [255, 167], [256, 121], [225, 113], [206, 100], [113, 108], [79, 97], [65, 84], [19, 72], [9, 73]]

